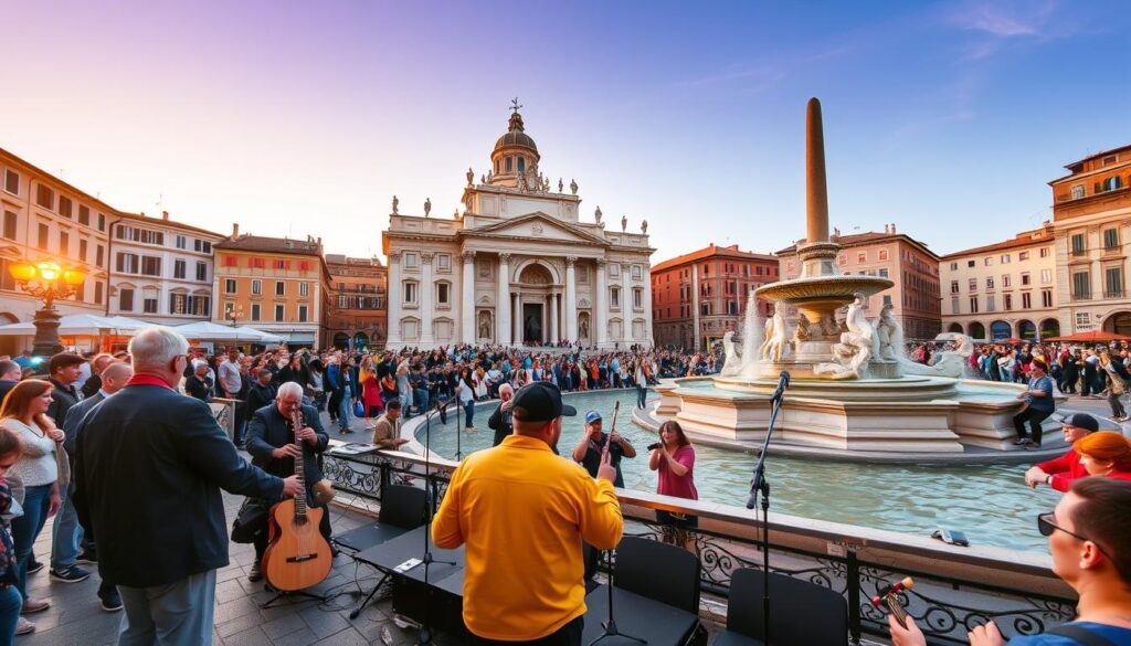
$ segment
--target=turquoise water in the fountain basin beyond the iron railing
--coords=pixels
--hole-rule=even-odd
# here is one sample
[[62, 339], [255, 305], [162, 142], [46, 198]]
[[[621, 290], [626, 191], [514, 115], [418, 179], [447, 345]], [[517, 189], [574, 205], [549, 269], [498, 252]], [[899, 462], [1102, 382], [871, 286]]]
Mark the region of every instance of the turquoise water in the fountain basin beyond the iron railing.
[[[578, 416], [566, 417], [559, 450], [568, 455], [580, 441], [585, 411], [594, 408], [612, 420], [613, 402], [621, 403], [618, 430], [632, 442], [638, 455], [621, 462], [624, 485], [656, 490], [656, 473], [648, 471], [647, 447], [657, 437], [631, 421], [634, 391], [603, 391], [571, 395], [567, 402]], [[494, 432], [487, 419], [497, 404], [475, 411], [475, 433], [460, 433], [464, 455], [491, 446]], [[455, 458], [456, 420], [432, 424], [432, 450]], [[423, 442], [423, 431], [417, 433]], [[750, 490], [753, 454], [707, 446], [696, 447], [696, 488], [700, 498], [745, 506]], [[1037, 533], [1036, 516], [1051, 510], [1060, 493], [1025, 486], [1026, 465], [931, 466], [821, 462], [810, 458], [770, 456], [767, 475], [772, 488], [772, 511], [930, 535], [938, 527], [966, 533], [974, 545], [996, 545], [1046, 552], [1045, 539]]]

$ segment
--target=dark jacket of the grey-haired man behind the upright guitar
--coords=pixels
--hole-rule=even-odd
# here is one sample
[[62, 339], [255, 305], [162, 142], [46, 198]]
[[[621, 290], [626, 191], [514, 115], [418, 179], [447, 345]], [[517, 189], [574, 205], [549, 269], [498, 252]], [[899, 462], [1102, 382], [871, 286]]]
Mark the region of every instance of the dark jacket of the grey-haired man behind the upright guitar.
[[[303, 422], [314, 429], [318, 442], [314, 446], [303, 442], [303, 476], [307, 479], [307, 502], [313, 505], [313, 493], [311, 488], [322, 480], [322, 470], [318, 467], [318, 455], [326, 450], [330, 443], [330, 436], [322, 428], [318, 411], [313, 406], [302, 407]], [[274, 458], [271, 449], [294, 442], [294, 436], [287, 425], [286, 417], [279, 414], [278, 407], [273, 403], [254, 412], [251, 421], [248, 422], [248, 453], [251, 454], [251, 464], [259, 468], [277, 475], [287, 477], [294, 475], [294, 458]], [[275, 502], [276, 499], [271, 499]]]

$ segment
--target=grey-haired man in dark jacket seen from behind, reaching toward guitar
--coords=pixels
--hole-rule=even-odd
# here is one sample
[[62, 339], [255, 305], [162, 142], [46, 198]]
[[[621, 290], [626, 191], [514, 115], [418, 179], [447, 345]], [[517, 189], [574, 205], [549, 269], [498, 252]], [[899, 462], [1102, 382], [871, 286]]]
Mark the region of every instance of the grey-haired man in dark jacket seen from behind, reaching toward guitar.
[[240, 457], [207, 404], [174, 390], [189, 342], [165, 327], [130, 341], [135, 376], [80, 422], [75, 507], [118, 584], [119, 644], [210, 644], [216, 569], [228, 565], [221, 488], [277, 500], [299, 491]]

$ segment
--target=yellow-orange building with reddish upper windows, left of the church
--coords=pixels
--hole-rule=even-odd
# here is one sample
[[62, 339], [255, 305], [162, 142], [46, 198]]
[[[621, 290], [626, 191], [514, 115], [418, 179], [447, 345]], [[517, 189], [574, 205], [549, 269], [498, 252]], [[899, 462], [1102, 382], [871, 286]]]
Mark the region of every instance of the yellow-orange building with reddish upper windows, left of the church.
[[322, 239], [240, 235], [214, 246], [211, 318], [282, 336], [293, 347], [327, 345], [329, 272]]

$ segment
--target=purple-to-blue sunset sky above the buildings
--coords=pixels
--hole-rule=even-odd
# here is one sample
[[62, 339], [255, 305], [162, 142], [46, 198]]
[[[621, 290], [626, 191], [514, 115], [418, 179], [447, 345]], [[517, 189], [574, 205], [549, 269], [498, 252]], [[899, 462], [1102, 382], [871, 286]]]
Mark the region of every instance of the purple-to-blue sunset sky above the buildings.
[[654, 262], [804, 236], [810, 96], [831, 226], [940, 255], [1039, 226], [1065, 164], [1131, 144], [1117, 0], [0, 7], [0, 147], [121, 210], [330, 253], [383, 258], [394, 195], [451, 217], [516, 96], [541, 170], [584, 221], [646, 218]]

